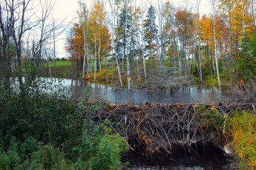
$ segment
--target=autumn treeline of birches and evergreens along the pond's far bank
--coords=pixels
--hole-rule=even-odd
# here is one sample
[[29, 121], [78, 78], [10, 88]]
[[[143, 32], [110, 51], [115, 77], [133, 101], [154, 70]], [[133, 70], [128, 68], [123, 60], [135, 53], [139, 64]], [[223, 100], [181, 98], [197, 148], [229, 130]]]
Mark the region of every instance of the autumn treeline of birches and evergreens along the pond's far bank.
[[[66, 51], [85, 78], [114, 69], [120, 86], [186, 83], [196, 78], [239, 82], [256, 73], [255, 1], [211, 1], [200, 15], [200, 0], [174, 7], [169, 1], [79, 2], [79, 22]], [[108, 11], [107, 11], [107, 10]], [[106, 66], [107, 65], [107, 66]], [[82, 72], [82, 74], [81, 74]], [[92, 73], [92, 74], [91, 74]], [[124, 82], [123, 82], [124, 81]]]

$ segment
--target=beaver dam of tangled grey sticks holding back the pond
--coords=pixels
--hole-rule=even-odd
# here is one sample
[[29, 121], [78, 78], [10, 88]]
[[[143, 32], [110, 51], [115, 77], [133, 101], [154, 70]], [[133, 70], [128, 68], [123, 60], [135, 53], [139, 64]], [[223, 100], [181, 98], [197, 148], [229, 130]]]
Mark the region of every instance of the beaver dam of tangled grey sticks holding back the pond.
[[[101, 103], [93, 112], [94, 103], [85, 120], [111, 122], [114, 132], [124, 137], [132, 151], [171, 153], [177, 148], [211, 143], [224, 149], [229, 143], [226, 120], [235, 112], [255, 112], [255, 104], [159, 104]], [[91, 111], [91, 112], [90, 112]]]

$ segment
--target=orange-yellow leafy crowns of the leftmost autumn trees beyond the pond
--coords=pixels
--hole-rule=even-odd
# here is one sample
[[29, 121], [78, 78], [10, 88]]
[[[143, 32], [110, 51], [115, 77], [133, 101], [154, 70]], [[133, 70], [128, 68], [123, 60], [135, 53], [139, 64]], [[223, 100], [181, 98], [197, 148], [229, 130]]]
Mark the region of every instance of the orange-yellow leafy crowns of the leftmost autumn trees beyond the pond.
[[94, 56], [96, 55], [97, 60], [99, 60], [99, 54], [101, 56], [108, 54], [111, 50], [111, 35], [105, 19], [104, 5], [96, 1], [88, 16], [88, 21], [82, 24], [73, 24], [73, 36], [67, 39], [68, 45], [65, 47], [65, 50], [70, 53], [71, 58], [82, 60], [85, 53], [85, 41], [89, 48], [88, 50]]

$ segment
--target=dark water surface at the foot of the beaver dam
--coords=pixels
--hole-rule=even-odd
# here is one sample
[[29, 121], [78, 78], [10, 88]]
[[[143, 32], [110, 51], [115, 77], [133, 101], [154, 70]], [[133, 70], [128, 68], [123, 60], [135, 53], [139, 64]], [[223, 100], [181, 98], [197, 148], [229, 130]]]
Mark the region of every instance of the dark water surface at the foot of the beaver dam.
[[[198, 156], [186, 156], [186, 157], [173, 157], [173, 156], [146, 156], [146, 155], [137, 155], [131, 154], [127, 160], [131, 164], [129, 169], [186, 169], [186, 170], [203, 170], [203, 169], [235, 169], [232, 164], [232, 158], [228, 158], [217, 154], [204, 155], [205, 157]], [[235, 165], [237, 166], [237, 165]]]

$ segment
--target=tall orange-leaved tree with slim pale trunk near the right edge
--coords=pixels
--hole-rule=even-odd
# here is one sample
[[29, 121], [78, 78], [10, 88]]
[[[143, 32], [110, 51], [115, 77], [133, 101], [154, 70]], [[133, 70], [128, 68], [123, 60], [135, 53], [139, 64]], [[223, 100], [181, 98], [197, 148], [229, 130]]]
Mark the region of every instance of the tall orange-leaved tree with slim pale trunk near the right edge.
[[232, 56], [235, 81], [238, 82], [237, 61], [240, 59], [241, 40], [247, 34], [249, 38], [254, 35], [253, 15], [249, 13], [252, 1], [220, 0], [219, 10], [228, 18], [227, 27], [229, 33], [228, 55]]

